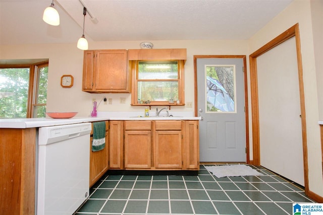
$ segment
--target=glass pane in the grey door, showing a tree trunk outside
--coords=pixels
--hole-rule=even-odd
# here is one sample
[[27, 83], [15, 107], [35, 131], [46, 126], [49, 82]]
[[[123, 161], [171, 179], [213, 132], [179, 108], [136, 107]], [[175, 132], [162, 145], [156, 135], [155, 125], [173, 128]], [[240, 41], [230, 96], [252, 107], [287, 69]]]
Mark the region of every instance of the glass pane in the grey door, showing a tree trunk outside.
[[206, 112], [235, 112], [235, 65], [205, 65]]

